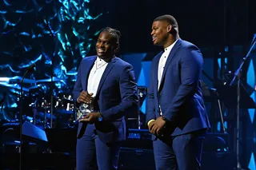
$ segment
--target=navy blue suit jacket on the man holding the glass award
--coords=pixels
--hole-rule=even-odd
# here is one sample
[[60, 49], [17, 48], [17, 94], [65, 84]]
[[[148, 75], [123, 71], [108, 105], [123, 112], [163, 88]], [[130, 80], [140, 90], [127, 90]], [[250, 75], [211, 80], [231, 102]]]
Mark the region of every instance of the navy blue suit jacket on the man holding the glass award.
[[[85, 57], [81, 61], [73, 90], [75, 105], [82, 90], [87, 91], [87, 83], [90, 83], [87, 80], [96, 58]], [[95, 107], [103, 117], [103, 121], [95, 123], [99, 139], [106, 143], [125, 140], [125, 115], [138, 109], [137, 84], [132, 65], [118, 57], [112, 58], [102, 74], [95, 101]], [[86, 123], [79, 123], [78, 137], [85, 129]]]

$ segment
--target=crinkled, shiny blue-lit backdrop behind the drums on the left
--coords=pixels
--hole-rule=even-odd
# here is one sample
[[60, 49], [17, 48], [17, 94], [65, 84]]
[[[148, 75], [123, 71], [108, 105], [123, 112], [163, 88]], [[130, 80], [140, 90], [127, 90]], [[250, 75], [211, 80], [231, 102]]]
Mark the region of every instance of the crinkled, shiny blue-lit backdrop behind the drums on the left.
[[70, 91], [79, 62], [101, 30], [94, 25], [104, 11], [95, 14], [89, 6], [90, 0], [0, 2], [0, 118], [16, 119], [20, 81], [32, 63], [36, 69], [24, 81], [25, 96], [38, 98], [40, 93], [30, 93], [34, 89], [50, 93], [50, 81], [54, 95]]

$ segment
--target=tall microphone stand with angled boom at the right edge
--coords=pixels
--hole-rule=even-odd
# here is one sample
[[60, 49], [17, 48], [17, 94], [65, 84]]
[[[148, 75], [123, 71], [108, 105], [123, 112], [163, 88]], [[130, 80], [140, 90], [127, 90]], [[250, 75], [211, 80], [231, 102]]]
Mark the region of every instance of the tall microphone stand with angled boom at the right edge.
[[[255, 35], [254, 35], [255, 39]], [[253, 39], [253, 41], [254, 41]], [[238, 79], [238, 85], [237, 85], [237, 93], [238, 93], [238, 98], [237, 98], [237, 129], [236, 129], [236, 156], [237, 156], [237, 169], [242, 170], [241, 164], [240, 164], [240, 159], [239, 159], [239, 121], [240, 121], [240, 81], [241, 81], [241, 72], [242, 72], [242, 66], [245, 64], [246, 59], [250, 56], [251, 51], [254, 49], [254, 45], [256, 44], [256, 41], [253, 42], [253, 44], [250, 46], [249, 52], [246, 54], [246, 57], [242, 58], [242, 63], [239, 66], [239, 68], [236, 70], [234, 73], [234, 78], [230, 82], [230, 86], [233, 85], [235, 79]]]

